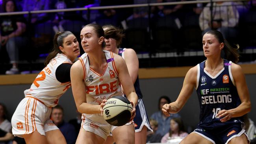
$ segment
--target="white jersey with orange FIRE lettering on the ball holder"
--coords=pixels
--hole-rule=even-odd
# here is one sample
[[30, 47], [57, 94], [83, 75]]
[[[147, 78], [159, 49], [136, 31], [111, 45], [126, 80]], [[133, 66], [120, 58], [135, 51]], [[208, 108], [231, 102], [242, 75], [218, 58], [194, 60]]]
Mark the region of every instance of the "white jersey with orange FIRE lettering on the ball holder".
[[[88, 54], [83, 54], [79, 60], [83, 65], [84, 82], [86, 88], [86, 101], [93, 105], [99, 105], [102, 100], [108, 100], [112, 96], [123, 96], [118, 72], [115, 67], [113, 53], [103, 50], [107, 59], [107, 66], [102, 74], [90, 68]], [[86, 118], [99, 124], [107, 124], [101, 114], [83, 114]]]

